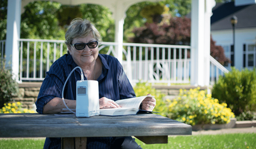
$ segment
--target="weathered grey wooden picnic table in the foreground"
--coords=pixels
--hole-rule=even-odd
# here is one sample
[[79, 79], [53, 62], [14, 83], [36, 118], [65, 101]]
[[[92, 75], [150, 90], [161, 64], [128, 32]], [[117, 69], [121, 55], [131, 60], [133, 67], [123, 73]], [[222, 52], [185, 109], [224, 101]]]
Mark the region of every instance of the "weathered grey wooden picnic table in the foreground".
[[61, 137], [62, 148], [86, 148], [87, 137], [135, 136], [146, 144], [168, 135], [191, 135], [192, 127], [156, 114], [76, 117], [74, 114], [0, 114], [0, 137]]

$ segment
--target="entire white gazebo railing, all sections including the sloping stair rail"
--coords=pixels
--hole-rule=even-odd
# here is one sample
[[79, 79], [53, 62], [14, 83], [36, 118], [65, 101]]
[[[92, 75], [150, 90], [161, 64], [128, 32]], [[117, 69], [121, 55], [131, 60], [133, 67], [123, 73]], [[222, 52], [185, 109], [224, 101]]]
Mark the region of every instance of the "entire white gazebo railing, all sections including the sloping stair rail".
[[[0, 52], [5, 41], [0, 41]], [[115, 42], [101, 42], [100, 53], [117, 57]], [[42, 81], [52, 63], [66, 53], [64, 40], [19, 39], [20, 81]], [[151, 83], [189, 83], [190, 46], [123, 43], [123, 68], [132, 84], [142, 81]], [[2, 54], [1, 54], [2, 56]], [[228, 72], [210, 56], [210, 82]]]

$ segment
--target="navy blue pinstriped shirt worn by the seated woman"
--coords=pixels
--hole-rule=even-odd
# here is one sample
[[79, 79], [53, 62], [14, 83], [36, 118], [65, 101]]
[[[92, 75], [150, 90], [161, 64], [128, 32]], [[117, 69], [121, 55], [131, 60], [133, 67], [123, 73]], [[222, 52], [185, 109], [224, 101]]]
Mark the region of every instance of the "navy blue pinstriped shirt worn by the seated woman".
[[[135, 97], [132, 85], [123, 71], [120, 62], [113, 56], [99, 54], [102, 62], [102, 74], [97, 79], [99, 82], [99, 97], [107, 97], [114, 101]], [[62, 98], [63, 85], [70, 72], [78, 65], [71, 55], [65, 54], [56, 60], [50, 67], [43, 80], [38, 99], [35, 102], [36, 111], [43, 113], [43, 106], [54, 97]], [[86, 77], [84, 76], [85, 80]], [[81, 80], [80, 69], [76, 69], [69, 77], [64, 89], [64, 98], [76, 100], [76, 81]], [[113, 137], [88, 138], [87, 146], [90, 148], [109, 148]], [[44, 148], [60, 148], [60, 138], [46, 138]]]

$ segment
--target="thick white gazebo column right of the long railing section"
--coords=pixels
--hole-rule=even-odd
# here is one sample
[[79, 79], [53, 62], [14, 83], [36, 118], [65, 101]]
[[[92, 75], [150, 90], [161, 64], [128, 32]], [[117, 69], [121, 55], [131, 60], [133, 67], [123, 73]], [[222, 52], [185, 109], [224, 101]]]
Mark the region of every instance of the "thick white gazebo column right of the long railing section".
[[210, 17], [214, 0], [191, 1], [191, 80], [194, 86], [210, 82]]

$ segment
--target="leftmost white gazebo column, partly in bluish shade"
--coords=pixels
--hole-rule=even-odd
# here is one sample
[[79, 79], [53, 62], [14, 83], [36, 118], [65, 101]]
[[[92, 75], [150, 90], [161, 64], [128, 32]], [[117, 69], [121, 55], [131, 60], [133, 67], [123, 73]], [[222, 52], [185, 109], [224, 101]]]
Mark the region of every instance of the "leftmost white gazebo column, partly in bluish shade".
[[5, 54], [6, 62], [11, 62], [12, 73], [18, 81], [19, 74], [19, 47], [21, 20], [21, 0], [8, 0], [7, 4], [7, 33]]

